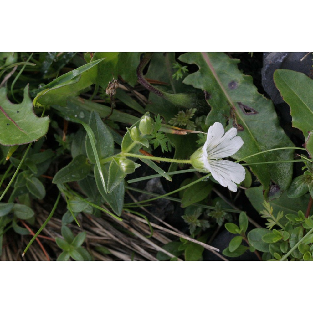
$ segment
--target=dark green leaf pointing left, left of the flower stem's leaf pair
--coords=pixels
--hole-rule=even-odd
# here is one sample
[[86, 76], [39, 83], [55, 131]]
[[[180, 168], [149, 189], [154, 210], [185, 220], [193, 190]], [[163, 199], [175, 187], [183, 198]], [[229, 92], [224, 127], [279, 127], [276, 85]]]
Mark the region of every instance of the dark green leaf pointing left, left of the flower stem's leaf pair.
[[85, 178], [90, 172], [90, 164], [86, 156], [80, 154], [76, 156], [68, 165], [63, 167], [54, 175], [52, 182], [54, 184], [63, 184], [65, 182], [74, 182]]

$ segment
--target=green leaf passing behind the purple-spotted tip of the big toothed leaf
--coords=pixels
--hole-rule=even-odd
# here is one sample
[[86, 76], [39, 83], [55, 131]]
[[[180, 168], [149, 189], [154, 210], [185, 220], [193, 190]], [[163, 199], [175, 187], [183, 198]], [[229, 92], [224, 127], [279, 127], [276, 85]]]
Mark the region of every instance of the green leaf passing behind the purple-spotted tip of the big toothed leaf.
[[[262, 187], [253, 187], [245, 190], [245, 194], [248, 197], [249, 201], [253, 205], [253, 207], [260, 213], [264, 210], [263, 207], [263, 192]], [[284, 224], [288, 221], [285, 217], [288, 213], [297, 213], [299, 208], [305, 212], [310, 195], [306, 194], [300, 198], [288, 198], [286, 192], [283, 195], [275, 200], [270, 202], [270, 205], [273, 207], [273, 215], [277, 216], [279, 211], [283, 211], [284, 217], [280, 219], [280, 223]]]

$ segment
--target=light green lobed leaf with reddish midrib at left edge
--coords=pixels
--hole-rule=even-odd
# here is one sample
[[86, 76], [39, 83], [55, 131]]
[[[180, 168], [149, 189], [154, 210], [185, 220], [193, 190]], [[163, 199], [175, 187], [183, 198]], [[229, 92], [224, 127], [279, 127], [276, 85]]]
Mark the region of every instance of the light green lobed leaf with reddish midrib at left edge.
[[0, 144], [23, 145], [44, 136], [49, 127], [49, 117], [38, 117], [33, 112], [33, 101], [24, 89], [21, 104], [13, 104], [7, 98], [6, 88], [0, 88]]

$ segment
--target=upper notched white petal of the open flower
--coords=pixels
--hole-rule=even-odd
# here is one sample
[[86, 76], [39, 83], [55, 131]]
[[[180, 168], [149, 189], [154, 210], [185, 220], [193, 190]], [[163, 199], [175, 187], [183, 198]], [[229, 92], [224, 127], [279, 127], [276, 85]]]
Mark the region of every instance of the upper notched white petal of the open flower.
[[237, 137], [236, 128], [229, 129], [224, 136], [221, 136], [221, 128], [223, 128], [221, 123], [216, 122], [211, 127], [209, 128], [207, 141], [204, 145], [209, 159], [221, 159], [232, 156], [244, 144], [244, 141], [240, 137]]

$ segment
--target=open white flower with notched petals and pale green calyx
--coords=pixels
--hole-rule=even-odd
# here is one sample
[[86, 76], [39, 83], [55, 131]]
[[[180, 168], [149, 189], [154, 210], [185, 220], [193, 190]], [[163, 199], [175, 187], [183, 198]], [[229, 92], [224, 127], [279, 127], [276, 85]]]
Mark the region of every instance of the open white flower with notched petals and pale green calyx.
[[207, 140], [190, 158], [193, 167], [200, 172], [212, 173], [223, 187], [236, 192], [237, 184], [244, 180], [245, 169], [239, 163], [220, 160], [235, 154], [244, 141], [237, 137], [237, 129], [231, 128], [224, 134], [221, 123], [214, 123], [208, 130]]

